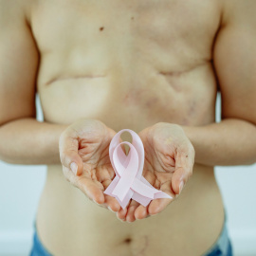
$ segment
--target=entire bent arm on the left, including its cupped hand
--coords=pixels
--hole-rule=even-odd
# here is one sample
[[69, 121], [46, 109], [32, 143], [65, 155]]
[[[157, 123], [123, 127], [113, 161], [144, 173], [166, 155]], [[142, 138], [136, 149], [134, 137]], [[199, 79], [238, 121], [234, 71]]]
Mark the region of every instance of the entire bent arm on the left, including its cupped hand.
[[101, 207], [119, 210], [118, 201], [103, 194], [115, 176], [108, 156], [115, 132], [98, 120], [67, 127], [35, 119], [39, 54], [24, 9], [13, 2], [0, 0], [0, 159], [17, 164], [61, 164], [62, 159], [72, 185]]

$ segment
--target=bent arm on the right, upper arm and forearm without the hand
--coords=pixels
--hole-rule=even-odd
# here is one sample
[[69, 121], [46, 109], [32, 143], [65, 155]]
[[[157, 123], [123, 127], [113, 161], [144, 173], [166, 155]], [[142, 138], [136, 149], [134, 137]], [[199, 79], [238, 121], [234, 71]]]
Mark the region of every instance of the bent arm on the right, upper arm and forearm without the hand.
[[195, 162], [212, 166], [256, 162], [256, 2], [232, 1], [226, 9], [213, 51], [222, 121], [183, 127]]

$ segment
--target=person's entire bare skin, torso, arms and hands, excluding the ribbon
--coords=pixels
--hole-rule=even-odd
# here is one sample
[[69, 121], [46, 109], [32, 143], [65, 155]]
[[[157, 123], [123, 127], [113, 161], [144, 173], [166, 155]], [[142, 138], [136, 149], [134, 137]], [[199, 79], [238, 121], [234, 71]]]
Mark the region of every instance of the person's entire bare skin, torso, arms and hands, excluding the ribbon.
[[[224, 221], [213, 166], [256, 161], [255, 1], [105, 3], [0, 1], [0, 157], [47, 165], [36, 224], [54, 255], [202, 255]], [[151, 184], [184, 180], [174, 200], [102, 197], [123, 128]]]

